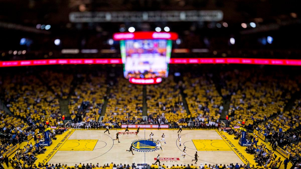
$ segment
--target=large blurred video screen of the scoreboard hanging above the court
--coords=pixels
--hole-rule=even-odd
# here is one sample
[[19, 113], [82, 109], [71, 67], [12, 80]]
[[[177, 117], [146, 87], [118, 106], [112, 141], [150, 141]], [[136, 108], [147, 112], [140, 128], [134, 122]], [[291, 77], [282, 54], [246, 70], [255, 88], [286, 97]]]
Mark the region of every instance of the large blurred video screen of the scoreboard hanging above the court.
[[120, 41], [125, 78], [167, 77], [172, 41], [133, 39]]

